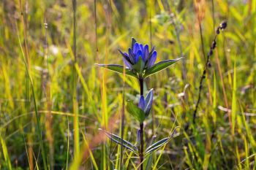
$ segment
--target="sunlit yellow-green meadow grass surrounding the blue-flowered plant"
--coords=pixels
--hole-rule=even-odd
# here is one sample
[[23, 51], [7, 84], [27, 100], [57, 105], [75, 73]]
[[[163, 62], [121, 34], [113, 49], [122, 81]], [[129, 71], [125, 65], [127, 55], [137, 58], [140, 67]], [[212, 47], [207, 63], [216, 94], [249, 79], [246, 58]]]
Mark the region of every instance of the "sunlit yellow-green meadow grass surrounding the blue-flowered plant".
[[[73, 12], [67, 0], [0, 2], [0, 169], [136, 169], [98, 128], [121, 136], [123, 98], [138, 100], [139, 83], [94, 65], [123, 64], [118, 48], [132, 37], [155, 45], [157, 61], [184, 57], [146, 79], [145, 143], [180, 127], [151, 169], [256, 169], [255, 0], [78, 0], [75, 29]], [[193, 124], [205, 63], [198, 16], [205, 55], [222, 20], [227, 28]], [[124, 139], [134, 144], [138, 128], [124, 112]]]

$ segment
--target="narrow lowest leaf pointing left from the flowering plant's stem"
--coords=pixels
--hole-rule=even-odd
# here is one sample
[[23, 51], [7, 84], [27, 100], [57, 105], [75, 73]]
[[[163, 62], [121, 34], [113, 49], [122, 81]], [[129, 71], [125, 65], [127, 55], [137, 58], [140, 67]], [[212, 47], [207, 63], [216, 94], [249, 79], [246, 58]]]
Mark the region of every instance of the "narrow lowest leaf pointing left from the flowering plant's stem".
[[135, 145], [131, 144], [130, 142], [121, 139], [121, 137], [117, 136], [116, 134], [111, 134], [108, 131], [105, 131], [101, 128], [99, 128], [99, 131], [103, 131], [108, 138], [110, 138], [113, 142], [116, 142], [117, 144], [121, 145], [121, 141], [123, 141], [122, 145], [123, 147], [127, 148], [128, 150], [134, 152], [136, 155], [138, 155], [138, 149], [135, 147]]

